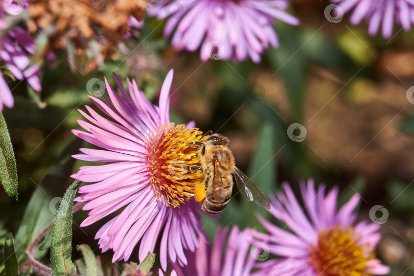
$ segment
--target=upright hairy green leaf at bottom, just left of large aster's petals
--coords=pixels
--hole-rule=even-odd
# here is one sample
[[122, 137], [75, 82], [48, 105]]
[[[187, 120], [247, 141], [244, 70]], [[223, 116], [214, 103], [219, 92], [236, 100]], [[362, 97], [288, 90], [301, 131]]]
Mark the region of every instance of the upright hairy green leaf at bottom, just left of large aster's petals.
[[70, 275], [76, 271], [72, 262], [72, 208], [79, 186], [76, 180], [67, 188], [52, 228], [51, 262], [53, 275]]

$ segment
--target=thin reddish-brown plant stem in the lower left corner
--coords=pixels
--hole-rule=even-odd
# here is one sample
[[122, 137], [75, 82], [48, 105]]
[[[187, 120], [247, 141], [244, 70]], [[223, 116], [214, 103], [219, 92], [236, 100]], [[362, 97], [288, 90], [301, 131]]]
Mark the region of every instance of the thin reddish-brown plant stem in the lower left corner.
[[[76, 203], [72, 208], [72, 213], [76, 213], [79, 210], [82, 209], [83, 205], [85, 205], [84, 202], [78, 202]], [[55, 221], [51, 221], [43, 230], [39, 233], [39, 235], [36, 237], [36, 239], [33, 240], [33, 242], [30, 244], [30, 246], [26, 250], [26, 254], [28, 256], [28, 260], [24, 263], [22, 263], [19, 266], [18, 273], [20, 274], [27, 268], [32, 269], [33, 273], [38, 276], [49, 276], [52, 275], [52, 268], [49, 266], [45, 266], [44, 264], [37, 261], [33, 256], [33, 250], [36, 247], [36, 245], [44, 238], [46, 234], [50, 231]]]

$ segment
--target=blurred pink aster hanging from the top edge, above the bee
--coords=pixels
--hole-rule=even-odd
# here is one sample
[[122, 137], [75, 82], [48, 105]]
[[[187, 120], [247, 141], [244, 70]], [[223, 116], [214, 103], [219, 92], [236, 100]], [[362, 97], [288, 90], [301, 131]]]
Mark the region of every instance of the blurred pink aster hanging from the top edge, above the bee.
[[279, 47], [274, 19], [291, 25], [299, 20], [285, 12], [287, 0], [157, 0], [150, 15], [167, 20], [164, 35], [172, 33], [177, 50], [196, 51], [200, 58], [260, 62], [271, 45]]

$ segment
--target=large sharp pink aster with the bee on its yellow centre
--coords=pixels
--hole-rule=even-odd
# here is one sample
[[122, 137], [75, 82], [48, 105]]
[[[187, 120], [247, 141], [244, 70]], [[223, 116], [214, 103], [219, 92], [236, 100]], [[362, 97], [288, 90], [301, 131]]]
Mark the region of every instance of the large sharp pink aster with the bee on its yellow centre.
[[81, 148], [84, 154], [73, 157], [110, 163], [81, 167], [72, 176], [90, 182], [79, 188], [83, 195], [75, 199], [87, 201], [83, 210], [90, 210], [81, 226], [118, 211], [95, 237], [102, 251], [113, 250], [112, 261], [128, 260], [140, 243], [138, 257], [142, 262], [160, 240], [157, 255], [164, 270], [170, 261], [186, 265], [184, 250], [198, 247], [197, 234], [208, 240], [193, 199], [194, 187], [202, 183], [204, 173], [191, 170], [199, 165], [199, 159], [197, 149], [188, 145], [205, 137], [197, 128], [190, 128], [194, 122], [187, 127], [170, 122], [172, 70], [162, 86], [159, 106], [145, 98], [134, 80], [127, 80], [127, 91], [114, 76], [122, 97], [105, 79], [109, 97], [102, 93], [104, 102], [89, 97], [105, 116], [86, 106], [88, 113], [79, 111], [89, 122], [78, 120], [86, 131], [73, 130], [76, 136], [101, 148]]

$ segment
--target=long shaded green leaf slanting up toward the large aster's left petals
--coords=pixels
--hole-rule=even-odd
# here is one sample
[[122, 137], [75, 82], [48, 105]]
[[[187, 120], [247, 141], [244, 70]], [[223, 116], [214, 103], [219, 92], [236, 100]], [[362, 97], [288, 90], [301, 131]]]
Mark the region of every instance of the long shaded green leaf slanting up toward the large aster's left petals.
[[[71, 155], [78, 152], [81, 142], [76, 139], [62, 152], [30, 198], [15, 238], [19, 264], [27, 259], [25, 251], [29, 245], [56, 216], [55, 206], [52, 204], [56, 200], [52, 199], [56, 199], [64, 193], [64, 183], [69, 179], [75, 163], [75, 159]], [[47, 250], [40, 249], [34, 251], [33, 255], [39, 259], [46, 253]]]

